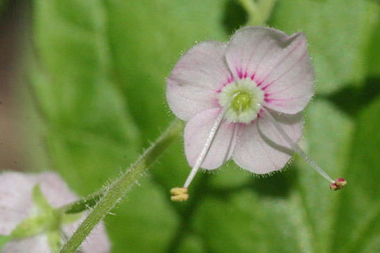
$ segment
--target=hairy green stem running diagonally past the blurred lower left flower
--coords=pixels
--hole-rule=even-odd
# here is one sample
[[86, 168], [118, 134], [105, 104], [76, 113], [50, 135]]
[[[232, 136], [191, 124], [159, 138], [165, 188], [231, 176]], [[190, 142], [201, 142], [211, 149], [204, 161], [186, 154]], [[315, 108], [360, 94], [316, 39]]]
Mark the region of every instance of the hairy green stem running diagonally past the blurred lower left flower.
[[80, 244], [85, 241], [89, 232], [111, 211], [117, 202], [123, 198], [128, 190], [135, 184], [138, 177], [144, 175], [157, 157], [180, 136], [183, 129], [182, 121], [176, 119], [169, 128], [148, 148], [128, 170], [107, 187], [103, 198], [99, 200], [89, 216], [78, 227], [69, 241], [62, 247], [61, 253], [76, 252]]

